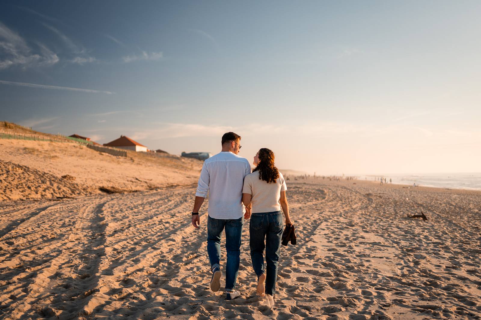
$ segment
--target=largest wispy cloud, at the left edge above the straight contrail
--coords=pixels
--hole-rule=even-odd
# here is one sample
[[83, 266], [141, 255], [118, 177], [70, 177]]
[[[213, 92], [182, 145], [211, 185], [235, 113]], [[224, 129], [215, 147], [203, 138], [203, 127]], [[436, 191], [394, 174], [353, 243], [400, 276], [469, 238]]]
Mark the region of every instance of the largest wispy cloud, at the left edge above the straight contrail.
[[12, 66], [22, 68], [51, 66], [59, 62], [55, 53], [45, 45], [37, 43], [38, 53], [33, 53], [24, 38], [0, 22], [0, 70]]

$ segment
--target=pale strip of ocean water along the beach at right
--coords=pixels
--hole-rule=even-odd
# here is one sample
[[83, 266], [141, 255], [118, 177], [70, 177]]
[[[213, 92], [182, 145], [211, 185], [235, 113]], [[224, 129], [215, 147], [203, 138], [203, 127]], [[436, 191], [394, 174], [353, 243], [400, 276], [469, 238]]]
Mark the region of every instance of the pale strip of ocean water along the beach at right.
[[380, 177], [392, 179], [393, 184], [420, 185], [436, 188], [481, 190], [481, 172], [468, 173], [424, 173], [424, 174], [385, 174], [362, 175], [360, 180], [379, 181]]

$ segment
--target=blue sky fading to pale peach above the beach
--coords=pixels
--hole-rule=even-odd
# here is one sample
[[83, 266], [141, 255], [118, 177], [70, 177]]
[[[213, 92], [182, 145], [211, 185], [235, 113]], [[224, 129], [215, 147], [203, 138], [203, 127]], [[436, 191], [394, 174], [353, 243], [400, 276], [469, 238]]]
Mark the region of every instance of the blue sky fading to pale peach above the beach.
[[481, 172], [480, 1], [2, 1], [0, 121], [310, 174]]

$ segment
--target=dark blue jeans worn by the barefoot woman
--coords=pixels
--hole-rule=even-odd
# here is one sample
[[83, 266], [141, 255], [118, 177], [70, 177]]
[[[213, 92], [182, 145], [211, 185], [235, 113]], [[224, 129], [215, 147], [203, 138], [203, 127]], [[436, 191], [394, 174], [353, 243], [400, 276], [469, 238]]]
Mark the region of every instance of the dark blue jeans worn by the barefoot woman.
[[[251, 234], [251, 259], [257, 278], [264, 273], [264, 248], [266, 249], [266, 294], [276, 293], [277, 267], [280, 241], [284, 223], [280, 211], [253, 213], [249, 232]], [[266, 242], [264, 242], [264, 239]]]

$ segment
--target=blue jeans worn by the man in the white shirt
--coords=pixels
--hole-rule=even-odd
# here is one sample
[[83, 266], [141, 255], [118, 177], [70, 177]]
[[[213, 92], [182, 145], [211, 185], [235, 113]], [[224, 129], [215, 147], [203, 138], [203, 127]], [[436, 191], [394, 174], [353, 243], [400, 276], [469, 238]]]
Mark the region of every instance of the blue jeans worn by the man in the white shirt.
[[220, 234], [226, 229], [226, 289], [234, 289], [239, 273], [241, 255], [241, 235], [244, 217], [239, 219], [215, 219], [209, 216], [207, 221], [207, 253], [211, 263], [211, 270], [219, 267], [220, 263]]

